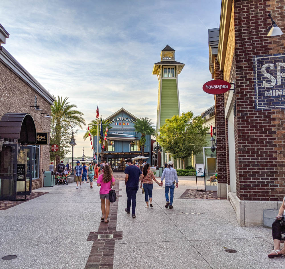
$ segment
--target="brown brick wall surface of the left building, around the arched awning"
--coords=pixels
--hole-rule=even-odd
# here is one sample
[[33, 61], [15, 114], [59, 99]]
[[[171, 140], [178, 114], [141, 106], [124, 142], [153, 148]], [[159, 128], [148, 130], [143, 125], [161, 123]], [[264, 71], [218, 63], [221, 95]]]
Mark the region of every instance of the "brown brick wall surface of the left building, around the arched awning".
[[[40, 117], [40, 111], [30, 110], [37, 96], [37, 105], [43, 109], [42, 113], [50, 113], [50, 104], [24, 81], [0, 63], [0, 118], [8, 112], [30, 113], [34, 118], [36, 131], [50, 132], [50, 119]], [[39, 179], [32, 180], [32, 189], [42, 187], [42, 173], [49, 169], [49, 146], [40, 146]]]

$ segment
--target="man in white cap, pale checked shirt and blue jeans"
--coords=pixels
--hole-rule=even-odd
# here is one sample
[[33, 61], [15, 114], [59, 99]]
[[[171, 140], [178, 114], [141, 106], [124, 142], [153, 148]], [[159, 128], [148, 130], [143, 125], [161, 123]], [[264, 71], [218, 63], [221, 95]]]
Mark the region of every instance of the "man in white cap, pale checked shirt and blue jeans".
[[[175, 184], [176, 184], [176, 189], [178, 188], [177, 171], [176, 169], [173, 168], [172, 161], [168, 162], [168, 166], [162, 172], [161, 182], [160, 182], [161, 186], [163, 186], [164, 178], [165, 178], [165, 199], [166, 199], [165, 207], [167, 208], [169, 206], [169, 208], [172, 209]], [[170, 191], [170, 201], [168, 197], [169, 191]]]

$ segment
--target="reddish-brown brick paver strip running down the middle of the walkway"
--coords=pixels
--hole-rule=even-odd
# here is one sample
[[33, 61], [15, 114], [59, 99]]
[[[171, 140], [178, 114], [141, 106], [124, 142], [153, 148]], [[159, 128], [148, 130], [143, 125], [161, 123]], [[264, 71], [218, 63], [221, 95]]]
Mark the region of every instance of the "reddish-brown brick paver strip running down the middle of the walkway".
[[[85, 269], [112, 269], [115, 251], [115, 240], [123, 239], [123, 231], [116, 231], [119, 202], [119, 184], [125, 175], [116, 179], [113, 189], [116, 191], [117, 201], [110, 203], [109, 223], [101, 221], [98, 231], [91, 232], [87, 241], [94, 241]], [[100, 221], [100, 219], [98, 219]], [[113, 235], [112, 239], [98, 239], [98, 235]]]

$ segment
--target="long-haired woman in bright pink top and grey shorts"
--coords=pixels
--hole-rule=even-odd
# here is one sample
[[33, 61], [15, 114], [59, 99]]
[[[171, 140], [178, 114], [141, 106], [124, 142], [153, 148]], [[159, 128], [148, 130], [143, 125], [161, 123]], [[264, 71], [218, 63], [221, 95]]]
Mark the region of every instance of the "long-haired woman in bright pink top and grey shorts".
[[104, 173], [101, 174], [97, 180], [97, 186], [100, 188], [100, 199], [101, 199], [101, 210], [102, 217], [101, 221], [108, 223], [108, 215], [110, 212], [110, 198], [109, 192], [111, 190], [111, 185], [115, 185], [115, 178], [113, 177], [112, 169], [110, 166], [104, 168]]

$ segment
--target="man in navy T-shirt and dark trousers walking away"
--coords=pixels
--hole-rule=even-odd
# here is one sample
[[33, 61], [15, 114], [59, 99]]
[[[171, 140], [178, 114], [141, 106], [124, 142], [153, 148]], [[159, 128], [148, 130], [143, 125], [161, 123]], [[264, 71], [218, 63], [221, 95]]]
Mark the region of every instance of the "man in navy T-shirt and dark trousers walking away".
[[136, 196], [139, 189], [139, 181], [143, 179], [143, 173], [140, 168], [133, 165], [132, 159], [127, 159], [126, 163], [128, 166], [125, 169], [125, 182], [128, 200], [125, 211], [130, 214], [132, 202], [132, 217], [134, 219], [136, 217]]

